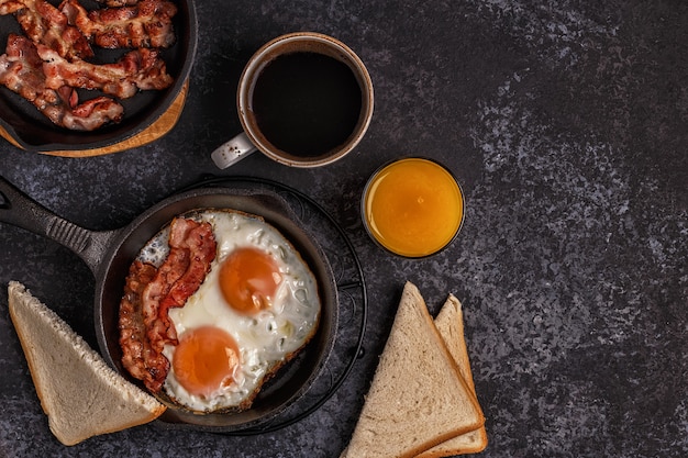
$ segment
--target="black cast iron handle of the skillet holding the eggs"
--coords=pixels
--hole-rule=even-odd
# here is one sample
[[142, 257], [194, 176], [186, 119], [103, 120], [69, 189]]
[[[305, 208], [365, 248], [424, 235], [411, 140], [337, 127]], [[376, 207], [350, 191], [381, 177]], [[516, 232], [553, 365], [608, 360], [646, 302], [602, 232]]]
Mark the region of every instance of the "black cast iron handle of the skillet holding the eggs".
[[114, 231], [95, 232], [56, 215], [0, 176], [0, 222], [46, 236], [69, 248], [97, 273]]

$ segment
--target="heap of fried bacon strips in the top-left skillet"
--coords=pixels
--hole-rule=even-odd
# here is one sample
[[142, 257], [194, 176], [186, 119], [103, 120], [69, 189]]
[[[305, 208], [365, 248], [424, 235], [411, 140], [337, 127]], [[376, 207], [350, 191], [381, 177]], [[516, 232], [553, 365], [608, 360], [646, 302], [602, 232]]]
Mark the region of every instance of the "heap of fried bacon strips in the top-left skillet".
[[[58, 7], [46, 0], [0, 0], [0, 14], [14, 14], [26, 36], [9, 35], [0, 83], [62, 127], [91, 131], [120, 122], [124, 108], [119, 100], [174, 82], [160, 51], [175, 43], [177, 7], [165, 0], [129, 3], [87, 11], [78, 0]], [[126, 54], [97, 63], [98, 47]], [[80, 102], [77, 89], [97, 93]]]

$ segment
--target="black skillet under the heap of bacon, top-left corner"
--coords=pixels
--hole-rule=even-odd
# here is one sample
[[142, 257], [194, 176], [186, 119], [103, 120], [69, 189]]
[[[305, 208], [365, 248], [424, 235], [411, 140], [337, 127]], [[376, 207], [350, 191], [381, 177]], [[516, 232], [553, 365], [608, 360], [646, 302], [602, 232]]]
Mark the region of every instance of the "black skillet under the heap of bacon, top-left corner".
[[[49, 1], [49, 0], [48, 0]], [[54, 125], [21, 96], [0, 85], [0, 125], [19, 145], [31, 152], [96, 149], [114, 145], [144, 131], [160, 118], [181, 91], [196, 56], [198, 23], [193, 0], [173, 0], [178, 8], [173, 18], [177, 41], [163, 51], [167, 71], [175, 78], [162, 91], [140, 91], [120, 100], [124, 116], [118, 124], [106, 125], [92, 132], [76, 132]], [[58, 2], [51, 1], [53, 4]], [[92, 0], [81, 0], [86, 8], [95, 8]], [[22, 34], [14, 15], [0, 15], [0, 54], [4, 54], [9, 33]], [[115, 62], [129, 49], [101, 49], [93, 46], [93, 63]], [[80, 100], [93, 98], [97, 91], [78, 90]]]

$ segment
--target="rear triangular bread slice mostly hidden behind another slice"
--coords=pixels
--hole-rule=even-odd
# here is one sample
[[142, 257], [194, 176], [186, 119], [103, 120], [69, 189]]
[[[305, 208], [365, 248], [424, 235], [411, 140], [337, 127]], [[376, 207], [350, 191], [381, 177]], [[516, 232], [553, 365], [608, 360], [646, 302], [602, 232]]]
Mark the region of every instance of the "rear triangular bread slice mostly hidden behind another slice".
[[[473, 395], [477, 398], [464, 334], [464, 313], [460, 302], [453, 294], [450, 294], [444, 305], [442, 305], [440, 313], [435, 317], [435, 326], [450, 350], [450, 354], [456, 361], [462, 377], [468, 384], [468, 388], [470, 388]], [[487, 431], [485, 426], [480, 426], [476, 431], [462, 434], [460, 436], [423, 451], [418, 458], [440, 458], [477, 454], [485, 450], [487, 443]]]

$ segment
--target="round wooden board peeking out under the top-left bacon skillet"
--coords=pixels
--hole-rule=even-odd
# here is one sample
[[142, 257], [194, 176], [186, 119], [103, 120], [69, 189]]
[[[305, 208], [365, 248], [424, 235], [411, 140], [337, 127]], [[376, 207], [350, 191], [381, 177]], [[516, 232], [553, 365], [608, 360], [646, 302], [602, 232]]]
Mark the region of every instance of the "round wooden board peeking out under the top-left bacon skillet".
[[[181, 87], [181, 91], [177, 98], [169, 105], [167, 111], [163, 113], [160, 118], [157, 119], [153, 124], [146, 127], [144, 131], [138, 134], [126, 138], [120, 143], [115, 143], [114, 145], [103, 146], [102, 148], [95, 149], [84, 149], [84, 150], [54, 150], [54, 152], [40, 152], [41, 154], [46, 154], [51, 156], [62, 156], [62, 157], [91, 157], [91, 156], [102, 156], [106, 154], [112, 154], [122, 152], [124, 149], [135, 148], [137, 146], [146, 145], [151, 142], [154, 142], [160, 138], [163, 135], [167, 134], [177, 123], [179, 116], [181, 115], [181, 110], [184, 109], [184, 103], [187, 98], [187, 92], [189, 90], [189, 81]], [[10, 135], [2, 126], [0, 126], [0, 136], [4, 137], [12, 145], [20, 147], [20, 144]]]

